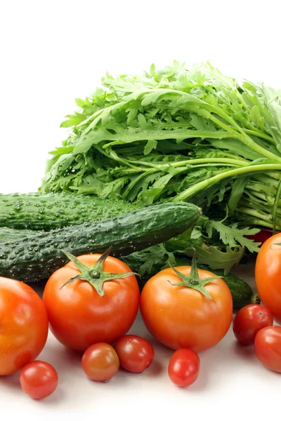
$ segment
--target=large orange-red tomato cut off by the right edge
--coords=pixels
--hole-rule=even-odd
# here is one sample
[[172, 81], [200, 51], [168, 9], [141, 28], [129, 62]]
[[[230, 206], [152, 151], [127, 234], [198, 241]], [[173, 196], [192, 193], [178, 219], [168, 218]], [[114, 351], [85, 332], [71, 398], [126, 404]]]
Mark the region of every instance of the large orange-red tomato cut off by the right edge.
[[281, 323], [281, 233], [271, 236], [259, 250], [256, 258], [256, 288], [263, 305], [270, 309], [273, 318]]

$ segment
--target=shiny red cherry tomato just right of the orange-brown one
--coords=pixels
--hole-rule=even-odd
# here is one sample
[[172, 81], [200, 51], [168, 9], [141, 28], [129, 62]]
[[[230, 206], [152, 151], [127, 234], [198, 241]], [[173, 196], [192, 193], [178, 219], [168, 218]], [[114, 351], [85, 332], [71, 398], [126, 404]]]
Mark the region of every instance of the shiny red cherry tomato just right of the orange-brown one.
[[120, 365], [131, 373], [143, 373], [150, 366], [154, 349], [148, 340], [136, 335], [119, 338], [115, 344]]

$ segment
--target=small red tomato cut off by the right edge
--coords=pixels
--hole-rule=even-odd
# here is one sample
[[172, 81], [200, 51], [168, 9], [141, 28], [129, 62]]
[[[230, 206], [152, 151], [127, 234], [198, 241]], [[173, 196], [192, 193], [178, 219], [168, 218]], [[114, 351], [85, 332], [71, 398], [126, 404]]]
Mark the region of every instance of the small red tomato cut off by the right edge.
[[267, 326], [256, 334], [254, 349], [259, 361], [270, 370], [281, 373], [281, 327]]

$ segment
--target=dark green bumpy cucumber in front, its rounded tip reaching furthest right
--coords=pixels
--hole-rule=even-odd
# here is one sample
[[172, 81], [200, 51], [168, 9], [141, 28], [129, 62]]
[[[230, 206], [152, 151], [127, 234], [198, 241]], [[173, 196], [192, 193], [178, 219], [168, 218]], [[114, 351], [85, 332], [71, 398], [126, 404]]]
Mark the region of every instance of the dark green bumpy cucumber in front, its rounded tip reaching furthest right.
[[46, 279], [73, 255], [103, 253], [126, 255], [162, 243], [192, 226], [200, 208], [191, 203], [162, 203], [110, 220], [85, 222], [0, 243], [0, 276], [20, 281]]

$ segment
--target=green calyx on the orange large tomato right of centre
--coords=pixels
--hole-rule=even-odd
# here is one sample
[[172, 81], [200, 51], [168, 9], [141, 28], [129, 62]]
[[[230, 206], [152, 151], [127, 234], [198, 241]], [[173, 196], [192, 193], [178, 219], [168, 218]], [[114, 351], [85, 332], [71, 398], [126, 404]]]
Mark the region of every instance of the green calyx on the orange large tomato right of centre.
[[[208, 293], [207, 289], [204, 288], [204, 286], [206, 285], [206, 283], [214, 281], [215, 279], [218, 279], [218, 278], [222, 279], [223, 278], [223, 276], [210, 276], [209, 278], [200, 279], [199, 272], [198, 272], [198, 269], [197, 269], [196, 251], [194, 252], [194, 255], [193, 255], [193, 258], [192, 258], [191, 270], [190, 270], [189, 276], [186, 276], [186, 275], [182, 274], [175, 267], [171, 266], [171, 269], [173, 269], [174, 272], [182, 280], [182, 282], [171, 283], [171, 285], [173, 285], [173, 286], [187, 286], [188, 288], [195, 289], [195, 290], [199, 291], [200, 293], [202, 293], [203, 295], [205, 295], [205, 297], [209, 298], [210, 300], [213, 300], [213, 298], [211, 298], [211, 295]], [[168, 280], [168, 282], [170, 282], [170, 281]]]

